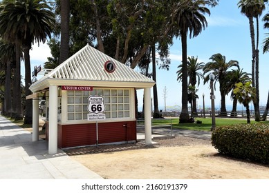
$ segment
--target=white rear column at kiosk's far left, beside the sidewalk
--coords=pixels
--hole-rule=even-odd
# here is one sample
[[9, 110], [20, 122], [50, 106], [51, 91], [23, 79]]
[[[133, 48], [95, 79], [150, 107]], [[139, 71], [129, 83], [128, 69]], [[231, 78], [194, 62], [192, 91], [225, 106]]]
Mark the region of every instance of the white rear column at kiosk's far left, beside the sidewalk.
[[39, 139], [39, 100], [33, 99], [33, 141]]

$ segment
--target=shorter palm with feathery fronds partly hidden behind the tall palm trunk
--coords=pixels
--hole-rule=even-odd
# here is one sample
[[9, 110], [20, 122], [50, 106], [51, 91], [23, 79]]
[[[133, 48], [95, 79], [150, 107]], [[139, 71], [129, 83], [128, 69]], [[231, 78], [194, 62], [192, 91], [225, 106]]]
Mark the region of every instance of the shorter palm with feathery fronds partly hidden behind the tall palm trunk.
[[[200, 79], [203, 79], [203, 73], [199, 72], [199, 70], [203, 70], [204, 67], [203, 62], [198, 62], [198, 57], [194, 58], [188, 57], [187, 58], [187, 74], [189, 77], [189, 85], [196, 86], [196, 83], [198, 83], [198, 86], [200, 85]], [[178, 65], [179, 70], [176, 72], [178, 74], [178, 81], [182, 80], [182, 64]], [[197, 81], [198, 80], [198, 81]], [[196, 99], [193, 99], [192, 101], [193, 107], [192, 111], [194, 115], [197, 115], [197, 108], [196, 108]]]

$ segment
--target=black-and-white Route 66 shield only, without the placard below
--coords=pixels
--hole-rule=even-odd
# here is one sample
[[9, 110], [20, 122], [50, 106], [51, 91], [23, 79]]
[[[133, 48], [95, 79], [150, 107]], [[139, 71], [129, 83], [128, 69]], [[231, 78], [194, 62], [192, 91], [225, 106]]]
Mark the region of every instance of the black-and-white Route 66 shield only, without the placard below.
[[105, 106], [104, 106], [104, 96], [98, 96], [98, 95], [91, 95], [88, 97], [88, 111], [91, 113], [101, 113], [104, 112]]

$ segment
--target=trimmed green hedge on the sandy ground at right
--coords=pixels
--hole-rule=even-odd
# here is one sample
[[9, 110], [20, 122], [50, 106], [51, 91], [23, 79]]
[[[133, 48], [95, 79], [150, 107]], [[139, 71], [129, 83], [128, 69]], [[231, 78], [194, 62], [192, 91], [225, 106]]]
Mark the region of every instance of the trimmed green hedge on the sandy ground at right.
[[269, 125], [228, 125], [212, 132], [212, 145], [222, 154], [269, 164]]

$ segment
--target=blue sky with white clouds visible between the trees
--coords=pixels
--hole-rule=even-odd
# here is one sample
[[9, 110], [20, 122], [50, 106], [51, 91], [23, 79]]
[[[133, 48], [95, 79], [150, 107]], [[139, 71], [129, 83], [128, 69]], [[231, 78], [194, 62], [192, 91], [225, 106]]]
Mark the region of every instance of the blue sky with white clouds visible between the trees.
[[[239, 61], [240, 68], [244, 72], [251, 73], [251, 42], [250, 42], [250, 28], [248, 18], [241, 14], [238, 6], [238, 1], [234, 0], [220, 0], [219, 6], [210, 8], [210, 16], [207, 18], [207, 28], [193, 39], [187, 40], [187, 55], [189, 57], [198, 57], [199, 62], [207, 63], [213, 54], [221, 53], [226, 57], [226, 61], [236, 60]], [[263, 15], [268, 11], [265, 10]], [[261, 16], [261, 18], [263, 17]], [[268, 30], [263, 30], [263, 22], [260, 18], [260, 32], [259, 32], [259, 88], [260, 88], [260, 105], [266, 105], [268, 90], [269, 90], [269, 53], [262, 53], [262, 42], [266, 37]], [[169, 58], [171, 65], [169, 71], [157, 70], [157, 89], [158, 89], [158, 106], [159, 110], [164, 110], [164, 89], [167, 88], [166, 105], [181, 106], [181, 82], [178, 83], [176, 71], [178, 65], [181, 63], [181, 43], [180, 39], [174, 39], [174, 44], [170, 48]], [[37, 44], [33, 45], [33, 50], [30, 50], [31, 67], [35, 65], [44, 65], [47, 57], [50, 57], [50, 49], [48, 45]], [[21, 69], [24, 72], [23, 69]], [[135, 70], [139, 71], [138, 68]], [[32, 70], [33, 71], [33, 70]], [[37, 77], [40, 79], [41, 75]], [[138, 90], [138, 106], [142, 107], [142, 90]], [[203, 94], [205, 95], [205, 107], [210, 107], [210, 87], [209, 83], [203, 85], [201, 81], [198, 92], [197, 100], [198, 110], [203, 108]], [[215, 108], [220, 109], [221, 95], [219, 92], [219, 85], [216, 85], [214, 92]], [[152, 95], [152, 94], [151, 94]], [[231, 110], [232, 100], [230, 94], [225, 97], [226, 108]], [[238, 110], [241, 110], [242, 105], [238, 105]], [[252, 108], [252, 107], [251, 107]], [[253, 109], [253, 108], [252, 108]]]

